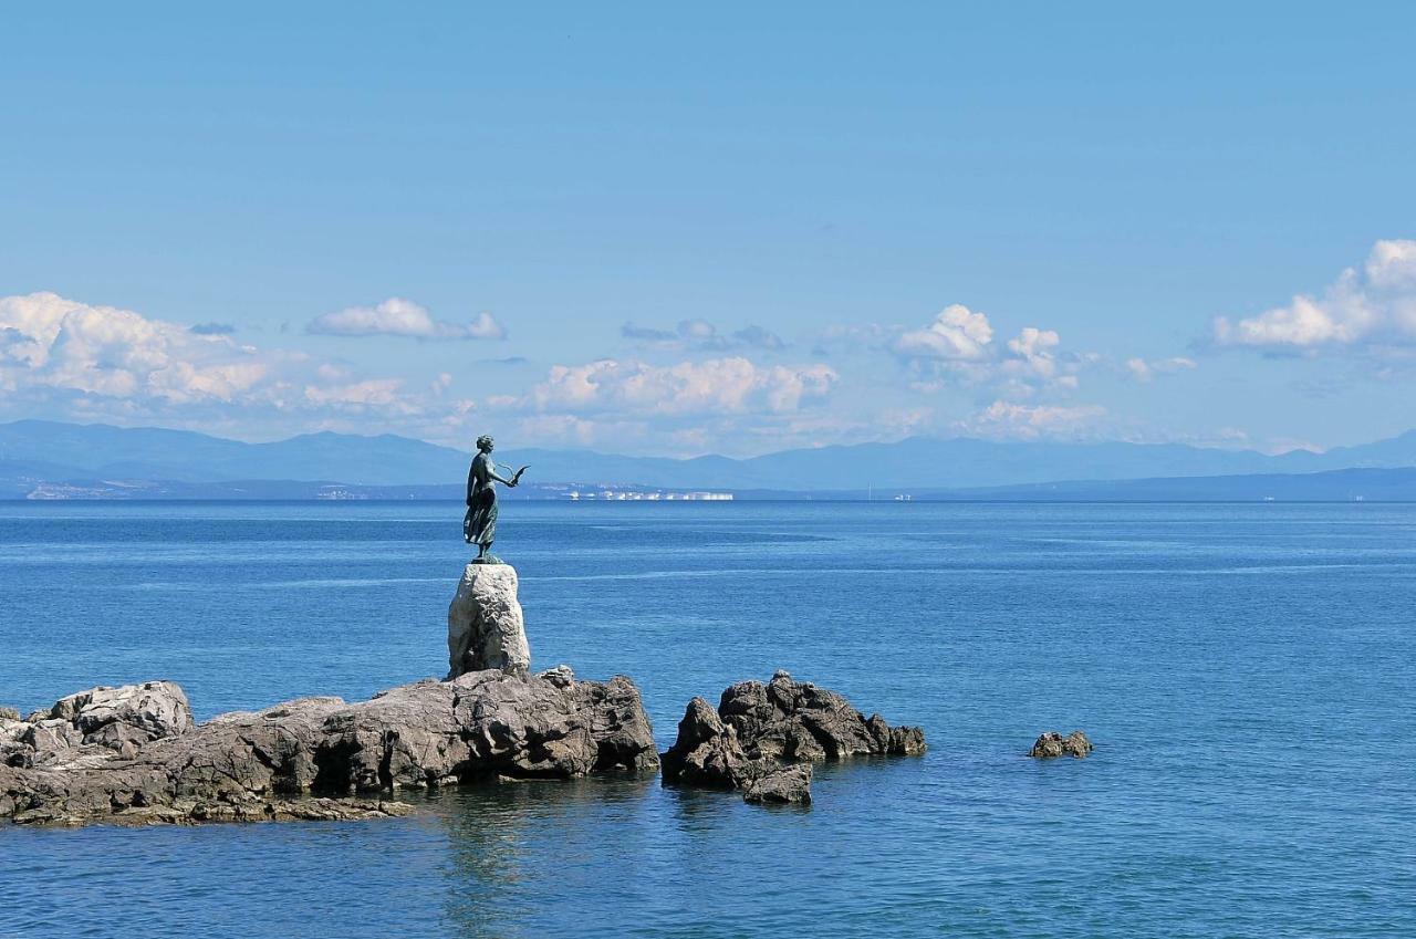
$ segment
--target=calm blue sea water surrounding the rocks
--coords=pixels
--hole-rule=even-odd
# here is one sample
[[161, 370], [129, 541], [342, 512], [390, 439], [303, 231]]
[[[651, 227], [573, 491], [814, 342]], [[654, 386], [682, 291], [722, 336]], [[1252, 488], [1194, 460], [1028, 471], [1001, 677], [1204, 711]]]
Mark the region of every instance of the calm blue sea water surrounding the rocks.
[[[0, 504], [0, 702], [198, 719], [440, 674], [460, 508]], [[514, 503], [537, 667], [660, 745], [775, 668], [922, 724], [807, 810], [657, 780], [415, 817], [0, 827], [0, 936], [1412, 936], [1416, 506]], [[1085, 761], [1022, 756], [1085, 728]]]

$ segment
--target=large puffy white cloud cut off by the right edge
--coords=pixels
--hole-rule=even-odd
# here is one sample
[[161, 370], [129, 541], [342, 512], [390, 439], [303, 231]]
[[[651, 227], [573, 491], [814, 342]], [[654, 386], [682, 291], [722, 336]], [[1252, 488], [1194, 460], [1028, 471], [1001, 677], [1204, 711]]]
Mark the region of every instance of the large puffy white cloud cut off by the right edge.
[[1379, 241], [1361, 269], [1348, 268], [1323, 293], [1231, 321], [1219, 317], [1222, 346], [1317, 350], [1416, 340], [1416, 241]]

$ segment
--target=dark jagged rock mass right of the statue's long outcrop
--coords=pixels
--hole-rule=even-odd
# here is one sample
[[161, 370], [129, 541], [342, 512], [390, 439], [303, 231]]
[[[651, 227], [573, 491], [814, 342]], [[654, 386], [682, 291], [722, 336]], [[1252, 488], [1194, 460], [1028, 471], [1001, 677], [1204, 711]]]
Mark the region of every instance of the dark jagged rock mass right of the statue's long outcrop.
[[666, 786], [809, 803], [811, 761], [923, 752], [923, 729], [892, 728], [879, 714], [867, 718], [840, 694], [777, 671], [767, 684], [729, 687], [716, 708], [704, 698], [690, 701], [663, 772]]

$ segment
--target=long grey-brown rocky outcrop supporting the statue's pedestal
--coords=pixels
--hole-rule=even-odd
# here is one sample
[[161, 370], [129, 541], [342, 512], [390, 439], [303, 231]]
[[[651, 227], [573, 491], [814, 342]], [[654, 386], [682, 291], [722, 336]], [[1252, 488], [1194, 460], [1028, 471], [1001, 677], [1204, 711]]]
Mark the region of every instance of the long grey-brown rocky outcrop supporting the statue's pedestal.
[[382, 799], [402, 789], [658, 765], [634, 684], [565, 667], [426, 678], [357, 704], [300, 698], [200, 727], [171, 683], [95, 688], [0, 719], [0, 817], [67, 824], [377, 817], [409, 810]]

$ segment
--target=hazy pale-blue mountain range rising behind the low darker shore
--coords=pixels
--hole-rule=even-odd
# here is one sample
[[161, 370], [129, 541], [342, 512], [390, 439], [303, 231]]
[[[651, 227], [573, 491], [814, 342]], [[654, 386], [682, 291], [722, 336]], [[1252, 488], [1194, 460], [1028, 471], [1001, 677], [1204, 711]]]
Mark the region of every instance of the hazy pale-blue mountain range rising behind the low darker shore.
[[[307, 493], [319, 487], [382, 497], [455, 494], [466, 477], [469, 459], [469, 452], [394, 435], [324, 432], [273, 443], [242, 443], [191, 431], [16, 421], [0, 425], [0, 499], [24, 499], [37, 490], [62, 496], [96, 489], [149, 497], [222, 497], [218, 493], [229, 493], [232, 487], [266, 493], [285, 487], [280, 491], [292, 493], [287, 497], [313, 497]], [[1003, 490], [1012, 487], [1007, 497], [1024, 497], [1025, 490], [1015, 487], [1085, 483], [1092, 487], [1087, 491], [1102, 491], [1096, 483], [1131, 480], [1129, 491], [1141, 491], [1146, 486], [1151, 490], [1161, 486], [1155, 480], [1412, 467], [1416, 431], [1327, 453], [1293, 450], [1276, 456], [1181, 443], [910, 438], [898, 443], [783, 450], [742, 460], [547, 449], [508, 450], [503, 459], [530, 465], [528, 480], [541, 486], [816, 491], [837, 497], [865, 496], [871, 490], [886, 497], [896, 491], [937, 497], [943, 490], [987, 490], [1005, 497]], [[1164, 487], [1174, 489], [1175, 483]], [[521, 494], [531, 491], [528, 487]], [[1065, 493], [1080, 489], [1049, 491], [1051, 497], [1076, 497]], [[977, 497], [977, 493], [956, 491], [956, 496]]]

